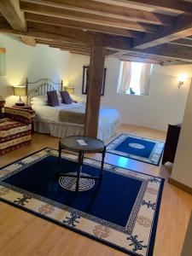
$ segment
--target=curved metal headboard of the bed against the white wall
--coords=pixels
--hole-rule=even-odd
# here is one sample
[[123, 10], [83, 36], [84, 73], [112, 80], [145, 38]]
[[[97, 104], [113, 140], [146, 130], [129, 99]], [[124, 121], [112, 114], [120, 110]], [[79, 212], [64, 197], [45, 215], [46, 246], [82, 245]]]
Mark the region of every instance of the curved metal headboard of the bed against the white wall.
[[[30, 90], [30, 87], [32, 88]], [[55, 88], [57, 87], [57, 88]], [[39, 79], [35, 82], [29, 82], [28, 79], [26, 79], [26, 95], [27, 95], [27, 101], [30, 102], [30, 99], [33, 96], [47, 96], [47, 92], [49, 90], [62, 90], [63, 83], [61, 80], [61, 83], [55, 83], [51, 79]]]

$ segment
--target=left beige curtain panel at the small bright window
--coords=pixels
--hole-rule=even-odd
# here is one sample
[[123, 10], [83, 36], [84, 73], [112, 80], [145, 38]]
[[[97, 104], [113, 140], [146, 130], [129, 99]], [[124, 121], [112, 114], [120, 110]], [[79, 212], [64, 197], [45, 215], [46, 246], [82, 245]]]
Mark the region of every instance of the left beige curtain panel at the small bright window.
[[130, 88], [131, 82], [131, 62], [122, 62], [121, 79], [119, 81], [119, 93], [125, 93]]

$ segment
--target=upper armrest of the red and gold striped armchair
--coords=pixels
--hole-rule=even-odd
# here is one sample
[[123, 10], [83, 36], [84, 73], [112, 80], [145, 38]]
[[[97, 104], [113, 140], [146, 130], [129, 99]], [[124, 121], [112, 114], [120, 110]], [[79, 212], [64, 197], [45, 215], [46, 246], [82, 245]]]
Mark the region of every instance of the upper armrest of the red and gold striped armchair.
[[32, 124], [32, 120], [35, 117], [35, 112], [31, 109], [20, 108], [4, 108], [4, 116], [15, 121], [20, 121], [26, 125]]

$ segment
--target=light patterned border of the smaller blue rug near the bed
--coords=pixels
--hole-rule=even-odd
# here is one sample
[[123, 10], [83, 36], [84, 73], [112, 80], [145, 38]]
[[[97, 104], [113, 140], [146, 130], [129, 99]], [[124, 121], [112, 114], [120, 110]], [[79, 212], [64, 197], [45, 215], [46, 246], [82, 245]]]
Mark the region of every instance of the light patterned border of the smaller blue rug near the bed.
[[[110, 143], [108, 143], [108, 144], [106, 145], [106, 148], [108, 147], [109, 144], [113, 143], [116, 139], [118, 139], [119, 137], [121, 137], [121, 136], [124, 135], [124, 134], [125, 134], [125, 135], [130, 135], [131, 137], [138, 137], [138, 136], [136, 136], [136, 135], [132, 135], [131, 133], [121, 133], [121, 134], [119, 134], [119, 136], [115, 137], [115, 138], [113, 139], [113, 141], [111, 141]], [[164, 141], [156, 141], [156, 140], [153, 140], [153, 139], [149, 139], [149, 138], [147, 138], [147, 137], [139, 137], [139, 138], [141, 138], [141, 139], [143, 139], [143, 140], [150, 140], [150, 141], [152, 141], [152, 142], [165, 143]], [[164, 145], [164, 147], [163, 147], [163, 149], [162, 149], [162, 152], [161, 152], [161, 154], [160, 154], [160, 159], [159, 159], [159, 161], [158, 161], [157, 164], [148, 163], [148, 162], [143, 161], [143, 160], [137, 160], [137, 159], [135, 159], [135, 158], [127, 157], [127, 156], [122, 155], [122, 154], [110, 153], [110, 152], [108, 152], [108, 149], [106, 150], [106, 153], [119, 155], [119, 156], [121, 156], [121, 157], [129, 158], [129, 159], [131, 159], [131, 160], [139, 161], [139, 162], [142, 162], [142, 163], [145, 163], [145, 164], [148, 164], [148, 165], [152, 165], [152, 166], [160, 166], [160, 160], [161, 160], [161, 158], [162, 158], [162, 154], [163, 154], [164, 148], [165, 148], [165, 145]], [[124, 168], [124, 167], [122, 167], [122, 168]], [[151, 176], [152, 176], [152, 175], [151, 175]]]

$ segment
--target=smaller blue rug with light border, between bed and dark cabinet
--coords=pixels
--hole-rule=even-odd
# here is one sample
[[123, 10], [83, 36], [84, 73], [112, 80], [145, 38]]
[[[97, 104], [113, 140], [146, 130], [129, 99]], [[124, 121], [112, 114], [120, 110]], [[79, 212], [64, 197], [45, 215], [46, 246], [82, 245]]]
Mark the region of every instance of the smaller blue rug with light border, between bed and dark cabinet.
[[107, 152], [159, 166], [164, 142], [122, 133], [107, 146]]

